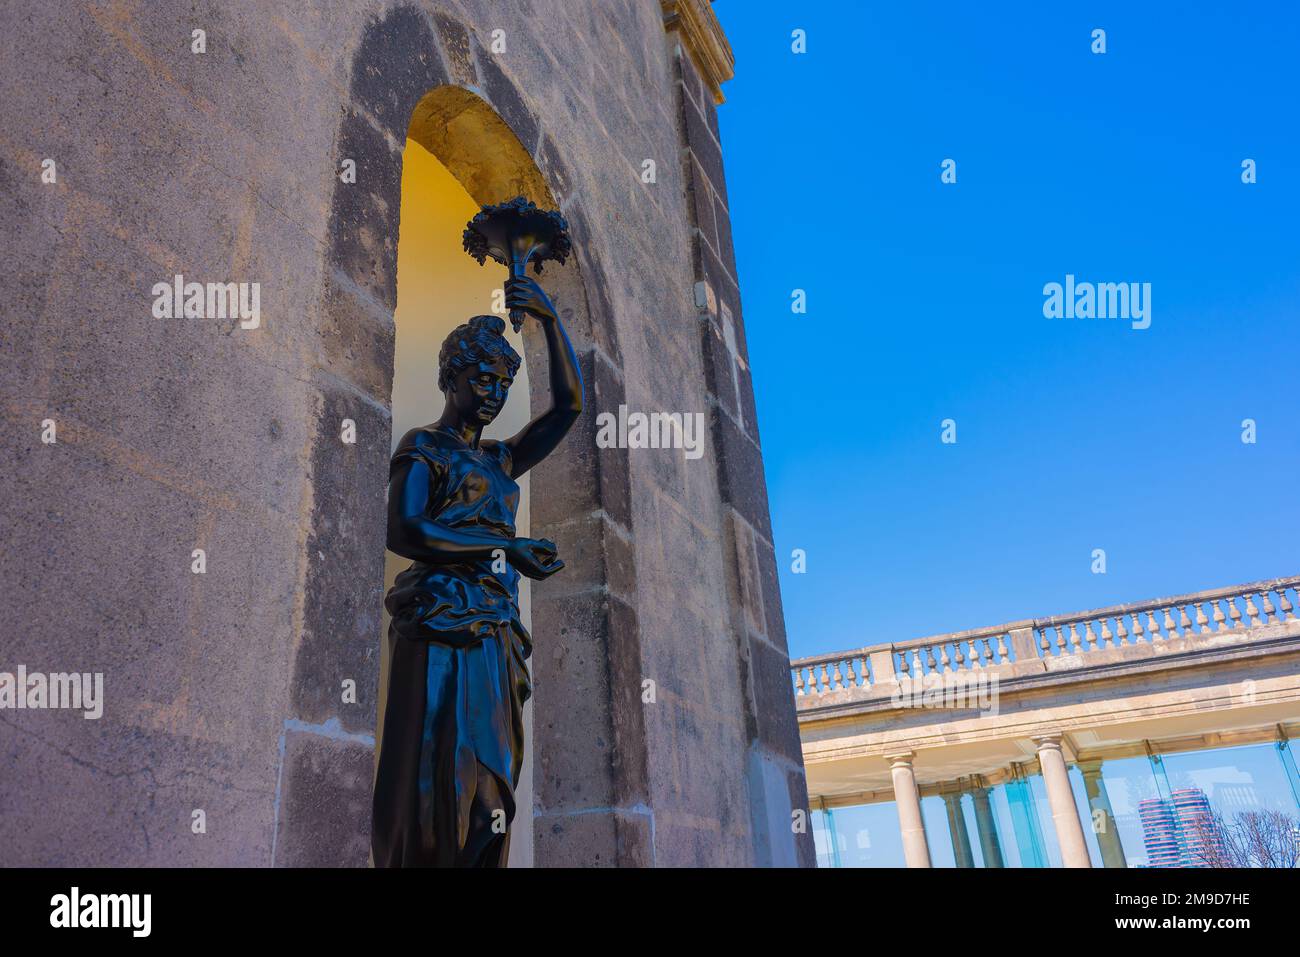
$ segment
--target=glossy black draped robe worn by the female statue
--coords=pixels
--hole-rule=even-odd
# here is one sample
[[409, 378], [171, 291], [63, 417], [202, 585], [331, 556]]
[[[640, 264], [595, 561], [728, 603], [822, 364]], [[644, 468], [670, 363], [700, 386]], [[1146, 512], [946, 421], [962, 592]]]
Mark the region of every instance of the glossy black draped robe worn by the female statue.
[[[467, 446], [442, 429], [402, 439], [429, 468], [425, 515], [515, 537], [519, 485], [499, 442]], [[504, 867], [506, 824], [524, 759], [532, 642], [519, 619], [519, 572], [503, 553], [456, 564], [415, 562], [385, 606], [393, 654], [372, 849], [377, 867]]]

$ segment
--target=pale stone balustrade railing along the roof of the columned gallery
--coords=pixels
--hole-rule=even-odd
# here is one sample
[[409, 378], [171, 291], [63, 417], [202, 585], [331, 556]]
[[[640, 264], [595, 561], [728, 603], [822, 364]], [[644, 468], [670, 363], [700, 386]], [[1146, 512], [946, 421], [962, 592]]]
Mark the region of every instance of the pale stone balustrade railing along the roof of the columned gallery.
[[[1028, 619], [790, 662], [796, 697], [872, 688], [900, 677], [980, 671], [1032, 658], [1087, 655], [1108, 648], [1197, 635], [1249, 632], [1300, 620], [1300, 576], [1217, 588], [1173, 598]], [[1294, 598], [1292, 598], [1294, 597]]]

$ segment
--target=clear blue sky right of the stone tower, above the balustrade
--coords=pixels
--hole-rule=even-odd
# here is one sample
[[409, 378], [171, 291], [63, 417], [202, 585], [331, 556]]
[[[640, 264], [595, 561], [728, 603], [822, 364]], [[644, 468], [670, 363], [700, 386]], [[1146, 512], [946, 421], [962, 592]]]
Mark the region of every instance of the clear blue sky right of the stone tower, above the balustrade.
[[715, 9], [792, 655], [1300, 573], [1300, 4]]

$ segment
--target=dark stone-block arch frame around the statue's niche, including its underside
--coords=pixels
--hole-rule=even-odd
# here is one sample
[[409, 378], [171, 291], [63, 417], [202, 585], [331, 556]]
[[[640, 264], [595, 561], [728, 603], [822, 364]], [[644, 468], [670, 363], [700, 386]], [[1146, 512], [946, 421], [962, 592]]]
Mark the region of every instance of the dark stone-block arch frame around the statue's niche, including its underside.
[[[624, 398], [604, 270], [581, 203], [566, 195], [559, 150], [523, 92], [464, 27], [415, 7], [398, 7], [364, 31], [335, 139], [316, 319], [322, 400], [291, 688], [303, 726], [325, 729], [330, 741], [303, 735], [286, 748], [276, 862], [364, 866], [369, 850], [407, 137], [477, 203], [525, 195], [571, 224], [576, 254], [563, 267], [547, 264], [542, 282], [578, 354], [586, 411], [529, 473], [530, 534], [554, 540], [568, 563], [532, 601], [536, 862], [645, 863], [653, 843], [645, 815], [621, 810], [645, 805], [647, 779], [629, 472], [625, 451], [597, 456], [593, 425], [598, 407]], [[348, 159], [351, 183], [337, 174]], [[484, 268], [504, 278], [503, 267]], [[549, 402], [549, 378], [532, 322], [524, 360], [536, 413]], [[338, 441], [344, 417], [356, 421], [355, 446]], [[360, 706], [338, 703], [341, 676], [360, 676]]]

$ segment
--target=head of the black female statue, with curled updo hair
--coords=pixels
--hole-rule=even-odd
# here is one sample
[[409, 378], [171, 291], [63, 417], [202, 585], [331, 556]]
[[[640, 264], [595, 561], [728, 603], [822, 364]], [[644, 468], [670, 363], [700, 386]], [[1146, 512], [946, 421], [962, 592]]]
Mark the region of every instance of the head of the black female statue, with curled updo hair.
[[474, 316], [442, 343], [438, 387], [462, 421], [488, 425], [506, 404], [520, 358], [504, 332], [497, 316]]

